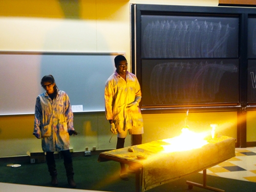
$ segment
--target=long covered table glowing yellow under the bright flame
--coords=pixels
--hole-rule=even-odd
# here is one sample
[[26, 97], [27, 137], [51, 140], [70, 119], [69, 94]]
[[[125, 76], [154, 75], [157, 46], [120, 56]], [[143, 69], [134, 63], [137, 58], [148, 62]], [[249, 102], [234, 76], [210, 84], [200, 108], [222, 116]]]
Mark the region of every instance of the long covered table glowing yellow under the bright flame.
[[[206, 169], [235, 156], [235, 139], [220, 136], [207, 138], [207, 144], [194, 150], [164, 153], [163, 140], [120, 148], [99, 154], [98, 162], [117, 161], [135, 168], [136, 192], [145, 191], [156, 186], [175, 181], [181, 177], [203, 170], [203, 184], [187, 181], [189, 188], [198, 186], [209, 190], [224, 190], [206, 185]], [[138, 159], [137, 156], [145, 157]]]

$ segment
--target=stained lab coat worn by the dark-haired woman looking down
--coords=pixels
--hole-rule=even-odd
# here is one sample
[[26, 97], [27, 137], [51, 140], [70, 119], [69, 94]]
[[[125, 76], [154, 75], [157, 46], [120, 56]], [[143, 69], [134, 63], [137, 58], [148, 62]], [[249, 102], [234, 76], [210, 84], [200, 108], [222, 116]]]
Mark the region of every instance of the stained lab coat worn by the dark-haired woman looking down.
[[71, 130], [74, 127], [69, 96], [59, 90], [53, 100], [47, 92], [40, 94], [36, 98], [33, 133], [41, 136], [42, 151], [69, 150]]

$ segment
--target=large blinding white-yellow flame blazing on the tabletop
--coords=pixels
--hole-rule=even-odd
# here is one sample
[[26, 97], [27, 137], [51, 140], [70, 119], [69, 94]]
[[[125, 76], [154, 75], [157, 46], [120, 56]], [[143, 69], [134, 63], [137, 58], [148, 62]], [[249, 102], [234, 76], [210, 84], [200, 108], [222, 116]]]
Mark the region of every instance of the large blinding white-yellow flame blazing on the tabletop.
[[189, 131], [187, 128], [183, 128], [181, 132], [180, 136], [163, 140], [164, 142], [169, 143], [167, 145], [162, 145], [164, 153], [189, 151], [195, 148], [200, 148], [208, 143], [208, 141], [204, 140], [207, 136], [206, 133], [195, 133]]

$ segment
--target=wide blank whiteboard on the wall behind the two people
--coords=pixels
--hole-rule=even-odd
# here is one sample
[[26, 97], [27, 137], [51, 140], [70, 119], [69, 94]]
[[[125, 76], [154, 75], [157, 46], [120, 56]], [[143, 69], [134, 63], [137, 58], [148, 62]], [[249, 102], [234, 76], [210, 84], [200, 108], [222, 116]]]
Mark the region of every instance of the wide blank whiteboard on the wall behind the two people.
[[[122, 53], [123, 54], [123, 53]], [[71, 105], [104, 111], [104, 87], [118, 53], [0, 52], [0, 115], [33, 114], [40, 81], [53, 75]]]

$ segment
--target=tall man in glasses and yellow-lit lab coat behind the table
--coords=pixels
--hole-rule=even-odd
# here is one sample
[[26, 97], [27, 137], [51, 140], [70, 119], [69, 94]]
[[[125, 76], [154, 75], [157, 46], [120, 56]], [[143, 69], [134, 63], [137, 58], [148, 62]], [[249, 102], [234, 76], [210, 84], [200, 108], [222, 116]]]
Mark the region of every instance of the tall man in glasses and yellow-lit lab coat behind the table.
[[[142, 143], [141, 91], [137, 77], [127, 71], [127, 60], [123, 55], [115, 57], [115, 67], [115, 73], [105, 83], [105, 116], [111, 132], [117, 133], [116, 148], [123, 148], [127, 131], [132, 135], [132, 145]], [[120, 164], [120, 178], [129, 180], [125, 165]]]

